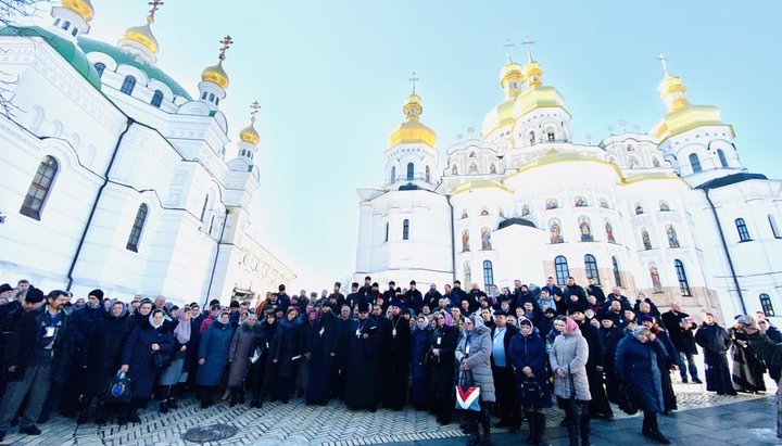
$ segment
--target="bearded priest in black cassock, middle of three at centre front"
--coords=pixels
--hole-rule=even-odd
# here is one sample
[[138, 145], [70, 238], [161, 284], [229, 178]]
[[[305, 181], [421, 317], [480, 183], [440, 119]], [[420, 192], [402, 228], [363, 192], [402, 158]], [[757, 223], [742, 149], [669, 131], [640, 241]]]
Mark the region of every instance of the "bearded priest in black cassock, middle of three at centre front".
[[380, 371], [380, 335], [377, 322], [369, 318], [369, 304], [358, 303], [358, 320], [351, 322], [348, 354], [345, 406], [349, 409], [377, 411]]

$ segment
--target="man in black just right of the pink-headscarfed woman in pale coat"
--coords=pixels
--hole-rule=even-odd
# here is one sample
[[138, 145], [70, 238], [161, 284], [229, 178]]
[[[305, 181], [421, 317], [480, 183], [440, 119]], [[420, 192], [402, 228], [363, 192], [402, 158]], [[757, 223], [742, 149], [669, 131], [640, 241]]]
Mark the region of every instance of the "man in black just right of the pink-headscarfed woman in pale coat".
[[586, 358], [586, 381], [589, 382], [590, 400], [589, 413], [592, 418], [604, 418], [606, 420], [614, 419], [614, 411], [608, 405], [605, 387], [603, 386], [603, 342], [601, 341], [597, 329], [584, 317], [583, 310], [573, 307], [569, 311], [569, 316], [578, 323], [581, 335], [586, 340], [589, 345], [589, 357]]

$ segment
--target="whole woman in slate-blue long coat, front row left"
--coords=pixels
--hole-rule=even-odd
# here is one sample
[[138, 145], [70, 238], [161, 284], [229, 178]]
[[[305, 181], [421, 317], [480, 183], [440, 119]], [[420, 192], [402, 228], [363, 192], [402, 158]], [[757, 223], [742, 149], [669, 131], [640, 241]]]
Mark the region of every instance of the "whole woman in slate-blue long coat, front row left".
[[234, 327], [228, 311], [222, 311], [201, 335], [195, 385], [199, 386], [202, 409], [214, 404], [212, 393], [223, 379], [232, 337]]

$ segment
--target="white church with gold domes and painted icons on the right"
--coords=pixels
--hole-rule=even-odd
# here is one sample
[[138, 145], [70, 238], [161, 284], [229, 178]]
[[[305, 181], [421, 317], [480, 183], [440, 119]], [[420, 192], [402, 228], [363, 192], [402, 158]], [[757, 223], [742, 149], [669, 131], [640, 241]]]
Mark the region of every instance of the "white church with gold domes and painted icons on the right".
[[[383, 186], [360, 189], [355, 277], [513, 288], [593, 278], [631, 300], [678, 301], [722, 320], [782, 305], [782, 181], [747, 173], [719, 110], [668, 72], [648, 133], [571, 140], [570, 114], [531, 52], [500, 74], [481, 137], [439, 163], [421, 99], [384, 152]], [[436, 174], [437, 173], [437, 174]], [[384, 284], [382, 285], [384, 288]]]

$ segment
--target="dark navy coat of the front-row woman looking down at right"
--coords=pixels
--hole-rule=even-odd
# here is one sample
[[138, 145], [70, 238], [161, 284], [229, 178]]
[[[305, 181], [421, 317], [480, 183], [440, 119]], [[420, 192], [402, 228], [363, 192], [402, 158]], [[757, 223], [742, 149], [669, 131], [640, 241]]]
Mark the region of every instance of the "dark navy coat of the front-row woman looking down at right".
[[659, 413], [665, 410], [665, 403], [658, 355], [666, 356], [659, 341], [642, 343], [628, 334], [617, 346], [615, 372], [617, 380], [629, 386], [630, 395], [641, 410]]

